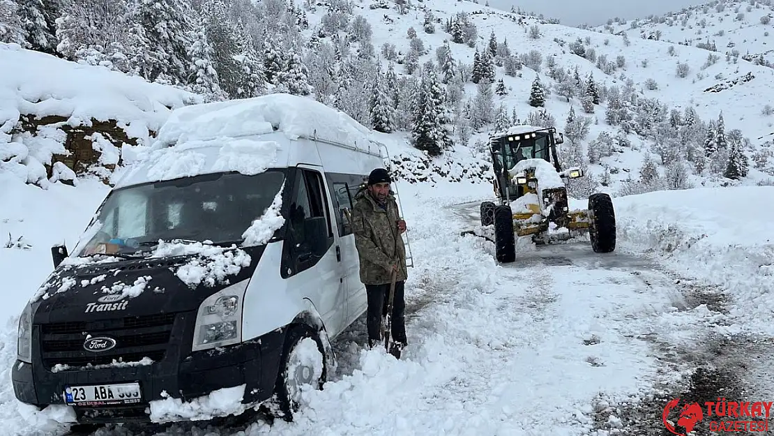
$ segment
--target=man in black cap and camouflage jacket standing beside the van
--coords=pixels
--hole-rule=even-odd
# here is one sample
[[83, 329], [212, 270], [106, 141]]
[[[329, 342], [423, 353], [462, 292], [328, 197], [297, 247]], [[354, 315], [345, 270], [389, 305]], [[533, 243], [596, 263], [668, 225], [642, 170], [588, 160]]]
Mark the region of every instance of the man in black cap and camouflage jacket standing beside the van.
[[390, 284], [395, 273], [390, 318], [393, 344], [389, 352], [400, 359], [400, 352], [406, 346], [403, 287], [408, 272], [406, 247], [400, 236], [406, 232], [406, 221], [400, 218], [398, 203], [390, 191], [391, 182], [387, 170], [373, 170], [368, 175], [365, 189], [354, 197], [351, 220], [360, 257], [360, 280], [368, 294], [368, 345], [373, 348], [382, 342], [382, 318], [387, 314]]

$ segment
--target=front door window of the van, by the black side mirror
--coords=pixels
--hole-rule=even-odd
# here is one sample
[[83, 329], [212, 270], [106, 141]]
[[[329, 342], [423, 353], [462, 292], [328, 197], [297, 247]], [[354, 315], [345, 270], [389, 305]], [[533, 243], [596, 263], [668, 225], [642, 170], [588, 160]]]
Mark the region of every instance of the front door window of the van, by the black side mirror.
[[334, 242], [320, 173], [298, 168], [294, 178], [292, 200], [288, 206], [288, 248], [283, 260], [286, 265], [283, 276], [311, 268]]

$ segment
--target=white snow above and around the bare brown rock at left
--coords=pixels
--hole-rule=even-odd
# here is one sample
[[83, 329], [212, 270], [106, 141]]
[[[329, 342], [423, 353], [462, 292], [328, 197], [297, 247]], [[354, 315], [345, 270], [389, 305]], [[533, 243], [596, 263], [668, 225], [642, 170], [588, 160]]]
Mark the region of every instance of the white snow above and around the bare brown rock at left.
[[[53, 154], [67, 154], [62, 125], [91, 126], [92, 119], [115, 120], [129, 138], [149, 144], [149, 131], [158, 131], [173, 108], [202, 101], [200, 96], [163, 84], [152, 84], [104, 67], [76, 64], [16, 44], [0, 43], [0, 171], [22, 181], [46, 180], [43, 164]], [[30, 134], [12, 134], [22, 115], [57, 115], [65, 122], [42, 125]], [[118, 162], [117, 149], [104, 136], [92, 136], [102, 151], [99, 163]], [[128, 147], [128, 146], [127, 146]], [[61, 166], [53, 180], [72, 180]]]

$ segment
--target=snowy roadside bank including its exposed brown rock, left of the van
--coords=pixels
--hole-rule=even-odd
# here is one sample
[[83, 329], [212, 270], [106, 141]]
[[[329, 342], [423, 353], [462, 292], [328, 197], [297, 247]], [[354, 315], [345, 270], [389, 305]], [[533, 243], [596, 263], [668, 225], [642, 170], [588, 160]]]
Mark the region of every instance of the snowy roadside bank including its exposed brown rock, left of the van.
[[[174, 108], [197, 94], [104, 67], [0, 43], [0, 176], [77, 183], [73, 170], [109, 179], [147, 146]], [[70, 162], [67, 165], [64, 162]]]

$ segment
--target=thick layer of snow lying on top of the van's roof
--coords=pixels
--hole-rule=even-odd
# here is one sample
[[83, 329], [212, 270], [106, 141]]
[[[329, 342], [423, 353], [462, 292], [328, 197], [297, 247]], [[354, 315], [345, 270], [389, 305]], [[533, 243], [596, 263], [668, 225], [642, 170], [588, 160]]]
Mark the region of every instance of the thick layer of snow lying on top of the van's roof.
[[368, 146], [372, 132], [344, 112], [311, 98], [269, 94], [179, 108], [159, 131], [153, 147], [284, 132], [289, 139], [320, 139]]

